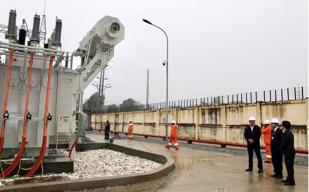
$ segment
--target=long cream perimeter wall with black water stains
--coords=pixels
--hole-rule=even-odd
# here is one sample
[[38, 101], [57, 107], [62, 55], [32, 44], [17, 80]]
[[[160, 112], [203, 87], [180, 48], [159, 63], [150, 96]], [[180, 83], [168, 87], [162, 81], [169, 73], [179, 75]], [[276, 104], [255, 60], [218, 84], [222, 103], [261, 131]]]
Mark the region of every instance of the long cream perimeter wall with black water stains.
[[[308, 150], [308, 98], [168, 109], [168, 121], [176, 121], [179, 138], [225, 143], [247, 144], [243, 133], [249, 125], [250, 116], [256, 118], [256, 125], [260, 127], [265, 120], [270, 121], [272, 118], [277, 118], [280, 122], [290, 121], [295, 149]], [[166, 109], [94, 114], [91, 117], [91, 127], [104, 130], [105, 121], [108, 120], [111, 131], [128, 132], [129, 119], [132, 119], [133, 133], [165, 136], [165, 117]], [[170, 127], [168, 131], [170, 135]], [[260, 143], [265, 146], [263, 134]]]

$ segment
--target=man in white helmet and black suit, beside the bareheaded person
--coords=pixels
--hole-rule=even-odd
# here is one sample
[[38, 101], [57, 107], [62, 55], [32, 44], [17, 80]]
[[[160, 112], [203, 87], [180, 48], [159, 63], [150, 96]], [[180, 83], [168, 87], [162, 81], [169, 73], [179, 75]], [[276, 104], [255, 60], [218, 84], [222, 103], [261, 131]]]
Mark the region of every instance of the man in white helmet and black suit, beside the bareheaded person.
[[279, 120], [276, 118], [273, 118], [270, 121], [270, 125], [273, 128], [271, 133], [271, 139], [270, 139], [270, 151], [271, 151], [271, 158], [273, 161], [273, 172], [274, 174], [270, 175], [270, 177], [275, 177], [276, 179], [283, 178], [282, 176], [282, 151], [279, 150], [279, 147], [281, 145], [281, 135], [282, 130], [279, 129]]

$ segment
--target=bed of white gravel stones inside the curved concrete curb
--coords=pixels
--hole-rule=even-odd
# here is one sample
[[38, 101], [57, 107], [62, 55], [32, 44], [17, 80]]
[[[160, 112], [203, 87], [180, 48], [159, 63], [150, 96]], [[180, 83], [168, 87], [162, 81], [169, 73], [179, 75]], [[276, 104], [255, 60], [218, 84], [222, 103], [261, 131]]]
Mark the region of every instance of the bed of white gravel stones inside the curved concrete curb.
[[[69, 155], [68, 151], [61, 151], [65, 155]], [[130, 156], [125, 153], [113, 151], [110, 149], [87, 150], [85, 152], [76, 152], [73, 173], [42, 175], [41, 177], [67, 176], [72, 180], [108, 177], [143, 173], [154, 170], [161, 165], [161, 163], [157, 163], [155, 161], [142, 159], [136, 156]], [[5, 186], [7, 182], [22, 178], [26, 177], [11, 179], [0, 178], [0, 186]]]

